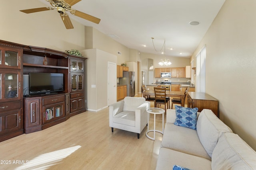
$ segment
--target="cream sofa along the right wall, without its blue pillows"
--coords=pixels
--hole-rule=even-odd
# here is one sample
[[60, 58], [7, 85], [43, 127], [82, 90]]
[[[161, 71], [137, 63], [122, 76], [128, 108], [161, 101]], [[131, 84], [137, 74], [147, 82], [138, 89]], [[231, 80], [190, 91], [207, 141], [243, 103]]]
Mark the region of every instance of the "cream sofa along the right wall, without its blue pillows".
[[167, 109], [156, 170], [256, 170], [256, 152], [209, 109], [197, 113], [196, 130], [174, 125]]

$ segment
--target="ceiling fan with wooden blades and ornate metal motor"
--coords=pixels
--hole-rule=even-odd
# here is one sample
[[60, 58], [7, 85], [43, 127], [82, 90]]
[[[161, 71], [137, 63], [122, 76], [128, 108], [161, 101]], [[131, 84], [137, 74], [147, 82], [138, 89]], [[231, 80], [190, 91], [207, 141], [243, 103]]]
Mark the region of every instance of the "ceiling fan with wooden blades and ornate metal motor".
[[92, 21], [94, 23], [100, 23], [100, 19], [96, 18], [94, 16], [90, 16], [88, 14], [85, 14], [83, 12], [80, 12], [78, 10], [72, 9], [72, 5], [80, 2], [81, 0], [46, 0], [48, 1], [52, 7], [42, 7], [42, 8], [33, 8], [28, 10], [20, 10], [21, 12], [24, 12], [26, 14], [34, 13], [34, 12], [41, 12], [41, 11], [47, 11], [47, 10], [54, 10], [57, 9], [58, 13], [60, 13], [60, 17], [62, 18], [62, 21], [66, 27], [66, 29], [72, 29], [74, 28], [68, 14], [66, 13], [69, 11], [71, 14], [78, 16], [80, 18], [83, 18], [88, 21]]

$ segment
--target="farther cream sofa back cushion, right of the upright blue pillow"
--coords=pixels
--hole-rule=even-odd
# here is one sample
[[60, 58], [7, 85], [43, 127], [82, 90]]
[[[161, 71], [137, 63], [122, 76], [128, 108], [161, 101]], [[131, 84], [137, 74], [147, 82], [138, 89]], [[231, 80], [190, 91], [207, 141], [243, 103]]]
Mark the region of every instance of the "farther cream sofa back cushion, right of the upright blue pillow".
[[198, 116], [196, 130], [200, 142], [210, 157], [222, 133], [232, 132], [210, 109], [203, 109]]

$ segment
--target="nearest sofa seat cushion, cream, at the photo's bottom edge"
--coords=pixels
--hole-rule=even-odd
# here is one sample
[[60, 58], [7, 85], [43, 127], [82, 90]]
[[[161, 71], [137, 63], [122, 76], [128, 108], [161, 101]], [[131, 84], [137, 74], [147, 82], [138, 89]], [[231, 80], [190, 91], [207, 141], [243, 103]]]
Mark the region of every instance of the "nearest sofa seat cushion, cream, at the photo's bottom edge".
[[190, 170], [211, 170], [211, 161], [206, 158], [172, 149], [160, 148], [156, 170], [172, 170], [174, 165], [186, 167]]

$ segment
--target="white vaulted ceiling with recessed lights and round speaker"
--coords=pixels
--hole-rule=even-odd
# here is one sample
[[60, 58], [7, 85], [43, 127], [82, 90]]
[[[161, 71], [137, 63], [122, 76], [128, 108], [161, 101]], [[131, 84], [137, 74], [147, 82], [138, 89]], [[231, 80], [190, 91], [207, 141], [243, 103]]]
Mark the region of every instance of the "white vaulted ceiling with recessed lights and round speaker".
[[[45, 0], [39, 1], [50, 6]], [[71, 21], [76, 20], [114, 36], [117, 42], [130, 49], [160, 54], [165, 40], [166, 56], [188, 58], [224, 2], [225, 0], [81, 0], [72, 8], [100, 18], [100, 23], [68, 14]], [[190, 25], [191, 21], [197, 21], [199, 25]]]

